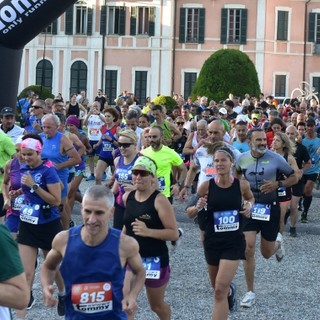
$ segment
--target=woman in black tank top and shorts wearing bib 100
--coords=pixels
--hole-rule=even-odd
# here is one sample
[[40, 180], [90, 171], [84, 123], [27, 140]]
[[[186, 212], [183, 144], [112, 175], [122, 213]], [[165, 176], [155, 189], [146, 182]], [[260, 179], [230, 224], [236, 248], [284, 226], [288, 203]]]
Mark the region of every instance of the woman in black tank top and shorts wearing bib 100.
[[[193, 215], [205, 210], [206, 227], [204, 252], [211, 285], [214, 288], [213, 319], [228, 319], [228, 311], [235, 311], [236, 286], [232, 279], [245, 255], [242, 216], [250, 217], [254, 197], [249, 183], [232, 176], [234, 156], [228, 147], [214, 153], [217, 175], [201, 184], [201, 197]], [[192, 214], [191, 214], [192, 215]], [[189, 216], [190, 211], [189, 211]]]

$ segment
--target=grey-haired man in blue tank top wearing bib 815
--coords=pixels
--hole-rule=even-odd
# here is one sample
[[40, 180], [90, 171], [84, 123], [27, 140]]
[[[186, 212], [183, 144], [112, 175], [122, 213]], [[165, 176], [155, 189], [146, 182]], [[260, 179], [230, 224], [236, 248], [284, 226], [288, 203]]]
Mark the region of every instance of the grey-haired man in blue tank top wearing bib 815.
[[[109, 227], [113, 204], [109, 189], [92, 186], [83, 196], [83, 225], [62, 231], [53, 240], [41, 282], [45, 303], [56, 305], [53, 281], [60, 267], [66, 287], [65, 319], [122, 320], [137, 310], [145, 269], [137, 241]], [[127, 264], [135, 278], [123, 292]]]

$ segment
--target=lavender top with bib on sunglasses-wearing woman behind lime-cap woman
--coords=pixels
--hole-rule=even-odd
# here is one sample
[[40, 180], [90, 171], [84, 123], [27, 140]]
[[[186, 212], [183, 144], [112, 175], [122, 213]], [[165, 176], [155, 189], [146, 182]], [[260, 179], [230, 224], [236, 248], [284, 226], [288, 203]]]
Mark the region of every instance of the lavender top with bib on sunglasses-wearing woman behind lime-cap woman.
[[115, 172], [114, 172], [115, 179], [118, 182], [118, 195], [116, 197], [116, 203], [121, 207], [124, 207], [122, 196], [125, 194], [125, 190], [122, 184], [124, 183], [132, 184], [131, 169], [139, 156], [140, 154], [138, 153], [129, 164], [124, 164], [124, 157], [121, 155], [119, 158], [118, 165], [115, 169]]

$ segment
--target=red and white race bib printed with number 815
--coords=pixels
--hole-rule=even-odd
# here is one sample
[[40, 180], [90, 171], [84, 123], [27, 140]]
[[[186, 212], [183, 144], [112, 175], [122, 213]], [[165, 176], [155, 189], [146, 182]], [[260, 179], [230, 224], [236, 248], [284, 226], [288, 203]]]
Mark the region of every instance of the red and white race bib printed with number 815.
[[71, 301], [75, 311], [97, 313], [111, 311], [111, 282], [74, 284], [71, 289]]

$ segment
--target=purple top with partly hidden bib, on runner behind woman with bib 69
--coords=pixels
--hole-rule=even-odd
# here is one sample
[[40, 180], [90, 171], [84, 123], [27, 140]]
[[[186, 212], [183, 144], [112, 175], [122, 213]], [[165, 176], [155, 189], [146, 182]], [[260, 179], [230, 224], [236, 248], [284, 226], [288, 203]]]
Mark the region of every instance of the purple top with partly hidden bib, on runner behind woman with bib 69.
[[[21, 188], [20, 163], [18, 158], [13, 158], [10, 164], [9, 172], [10, 188], [9, 190], [18, 190]], [[23, 204], [24, 195], [21, 194], [17, 198], [11, 200], [11, 208], [7, 210], [7, 216], [13, 214], [20, 215], [21, 205]]]

